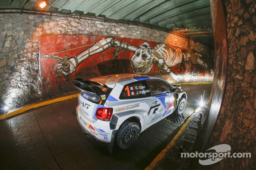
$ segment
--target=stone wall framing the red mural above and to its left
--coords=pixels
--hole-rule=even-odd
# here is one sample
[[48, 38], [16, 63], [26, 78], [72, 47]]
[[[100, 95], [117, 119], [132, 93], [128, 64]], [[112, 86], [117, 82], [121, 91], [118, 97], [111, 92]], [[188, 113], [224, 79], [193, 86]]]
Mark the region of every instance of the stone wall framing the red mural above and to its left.
[[43, 99], [39, 42], [41, 36], [53, 35], [102, 35], [170, 42], [195, 49], [204, 56], [209, 51], [186, 37], [141, 26], [59, 16], [0, 14], [0, 100], [10, 109]]

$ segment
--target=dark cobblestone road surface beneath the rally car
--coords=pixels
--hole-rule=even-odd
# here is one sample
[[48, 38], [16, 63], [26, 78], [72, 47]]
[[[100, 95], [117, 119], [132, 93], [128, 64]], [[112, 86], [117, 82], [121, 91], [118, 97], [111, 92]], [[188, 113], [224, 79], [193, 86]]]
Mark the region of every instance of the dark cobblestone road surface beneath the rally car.
[[[141, 133], [131, 150], [107, 147], [85, 137], [77, 122], [77, 99], [40, 107], [0, 121], [1, 169], [144, 169], [180, 129], [164, 119]], [[193, 108], [186, 107], [188, 117]]]

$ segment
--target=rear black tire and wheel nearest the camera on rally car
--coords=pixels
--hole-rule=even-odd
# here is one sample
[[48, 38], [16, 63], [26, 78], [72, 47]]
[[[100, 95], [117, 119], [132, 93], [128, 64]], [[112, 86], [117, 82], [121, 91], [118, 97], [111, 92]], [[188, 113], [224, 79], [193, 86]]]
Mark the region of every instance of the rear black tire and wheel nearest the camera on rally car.
[[116, 144], [121, 149], [131, 149], [140, 136], [137, 122], [124, 121], [116, 136]]

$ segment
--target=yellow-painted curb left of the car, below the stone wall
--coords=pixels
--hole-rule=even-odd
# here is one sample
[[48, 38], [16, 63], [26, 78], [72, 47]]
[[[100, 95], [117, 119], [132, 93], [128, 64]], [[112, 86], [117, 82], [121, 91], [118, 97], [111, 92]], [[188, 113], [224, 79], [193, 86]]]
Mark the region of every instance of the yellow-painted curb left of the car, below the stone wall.
[[34, 103], [34, 104], [28, 104], [27, 106], [15, 109], [14, 111], [8, 112], [8, 113], [6, 113], [4, 115], [0, 115], [0, 120], [11, 118], [12, 116], [21, 114], [21, 113], [23, 113], [25, 111], [28, 111], [30, 109], [34, 109], [34, 108], [37, 108], [37, 107], [41, 107], [41, 106], [45, 106], [45, 105], [50, 105], [52, 103], [57, 103], [57, 102], [60, 102], [60, 101], [77, 98], [78, 94], [79, 93], [68, 95], [68, 96], [64, 96], [64, 97], [59, 97], [59, 98], [56, 98], [56, 99], [47, 100], [47, 101], [43, 101], [43, 102], [39, 101], [39, 102]]

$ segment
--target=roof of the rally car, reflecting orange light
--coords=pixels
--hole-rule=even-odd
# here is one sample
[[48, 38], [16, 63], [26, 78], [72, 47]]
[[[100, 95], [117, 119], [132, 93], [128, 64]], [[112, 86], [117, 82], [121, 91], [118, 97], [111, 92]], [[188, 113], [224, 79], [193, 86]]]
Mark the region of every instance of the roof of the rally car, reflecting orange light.
[[157, 77], [155, 77], [153, 74], [147, 74], [147, 73], [128, 73], [128, 74], [112, 74], [108, 76], [101, 76], [97, 78], [91, 78], [90, 80], [101, 83], [101, 84], [105, 84], [108, 87], [111, 87], [111, 86], [115, 86], [115, 84], [119, 82], [132, 80], [132, 79], [139, 79], [139, 78], [157, 78]]

